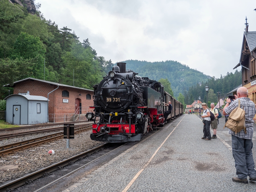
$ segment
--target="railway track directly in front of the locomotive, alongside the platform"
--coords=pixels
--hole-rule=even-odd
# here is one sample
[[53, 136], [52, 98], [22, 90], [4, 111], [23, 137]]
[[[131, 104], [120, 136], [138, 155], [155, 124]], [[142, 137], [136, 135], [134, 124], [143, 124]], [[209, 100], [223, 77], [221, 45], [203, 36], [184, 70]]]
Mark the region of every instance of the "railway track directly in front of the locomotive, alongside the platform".
[[[97, 151], [101, 150], [102, 148], [105, 148], [107, 145], [108, 144], [102, 144], [102, 145], [100, 145], [98, 147], [95, 147], [95, 148], [92, 148], [92, 149], [90, 149], [90, 150], [88, 150], [86, 152], [82, 152], [82, 153], [80, 153], [78, 155], [72, 156], [72, 157], [70, 157], [68, 159], [65, 159], [65, 160], [62, 160], [62, 161], [60, 161], [58, 163], [54, 163], [54, 164], [52, 164], [52, 165], [50, 165], [48, 167], [42, 168], [42, 169], [40, 169], [40, 170], [38, 170], [36, 172], [32, 172], [32, 173], [26, 174], [25, 176], [22, 176], [22, 177], [20, 177], [18, 179], [9, 181], [9, 182], [7, 182], [7, 183], [5, 183], [3, 185], [0, 185], [0, 191], [6, 191], [7, 189], [9, 189], [9, 190], [10, 189], [16, 189], [17, 187], [20, 187], [20, 186], [22, 186], [22, 185], [24, 185], [26, 183], [31, 183], [32, 181], [34, 181], [35, 179], [37, 179], [39, 177], [47, 176], [47, 175], [49, 175], [49, 173], [51, 173], [51, 172], [53, 172], [55, 170], [62, 169], [64, 166], [67, 166], [69, 164], [73, 164], [77, 160], [81, 160], [82, 158], [85, 158], [86, 156], [88, 156], [90, 154], [93, 154], [94, 152], [97, 152]], [[108, 154], [108, 153], [106, 153], [106, 154]], [[104, 155], [106, 155], [106, 154], [104, 154]], [[86, 165], [94, 162], [95, 160], [96, 159], [94, 159], [94, 160], [90, 161], [89, 163], [81, 166], [79, 169], [82, 169]], [[76, 172], [79, 169], [72, 170], [72, 171], [69, 172], [69, 174], [66, 174], [63, 177], [67, 177], [67, 175], [70, 175], [70, 174]], [[61, 178], [63, 178], [63, 177], [61, 177]], [[59, 179], [61, 179], [61, 178], [59, 178]], [[59, 179], [57, 179], [57, 180], [59, 180]], [[53, 181], [51, 183], [54, 183], [56, 181]], [[49, 184], [51, 184], [51, 183], [49, 183]], [[47, 186], [44, 186], [43, 188], [45, 188]]]

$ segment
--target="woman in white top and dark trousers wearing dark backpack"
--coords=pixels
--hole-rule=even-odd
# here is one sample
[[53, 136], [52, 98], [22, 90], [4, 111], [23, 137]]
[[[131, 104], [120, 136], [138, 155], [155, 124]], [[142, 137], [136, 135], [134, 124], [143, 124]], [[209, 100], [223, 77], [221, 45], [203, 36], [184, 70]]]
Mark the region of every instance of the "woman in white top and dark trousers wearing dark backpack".
[[211, 132], [210, 132], [210, 123], [211, 123], [210, 110], [207, 107], [206, 103], [202, 103], [202, 108], [204, 109], [204, 113], [201, 116], [203, 118], [203, 123], [204, 123], [204, 128], [203, 128], [204, 137], [202, 137], [202, 139], [212, 140]]

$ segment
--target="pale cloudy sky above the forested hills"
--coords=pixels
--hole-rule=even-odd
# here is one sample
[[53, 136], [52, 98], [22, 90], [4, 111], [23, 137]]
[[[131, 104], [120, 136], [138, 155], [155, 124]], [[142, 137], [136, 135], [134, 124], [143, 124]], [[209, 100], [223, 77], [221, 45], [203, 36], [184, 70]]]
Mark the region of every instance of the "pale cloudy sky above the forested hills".
[[[256, 31], [255, 0], [36, 0], [47, 20], [89, 39], [98, 56], [174, 60], [219, 78], [239, 63], [245, 17]], [[237, 68], [238, 70], [241, 67]], [[163, 69], [164, 70], [164, 69]]]

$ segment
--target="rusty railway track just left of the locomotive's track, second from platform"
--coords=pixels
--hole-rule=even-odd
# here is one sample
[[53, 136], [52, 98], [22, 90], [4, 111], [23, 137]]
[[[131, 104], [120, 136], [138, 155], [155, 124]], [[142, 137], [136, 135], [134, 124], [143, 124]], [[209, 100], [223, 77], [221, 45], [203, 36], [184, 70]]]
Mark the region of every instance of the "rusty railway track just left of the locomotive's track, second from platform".
[[[92, 125], [78, 126], [75, 128], [75, 133], [86, 131], [91, 128], [92, 128]], [[63, 127], [62, 127], [62, 129], [63, 129]], [[37, 137], [34, 139], [29, 139], [26, 141], [20, 141], [20, 142], [16, 142], [16, 143], [7, 144], [7, 145], [2, 145], [2, 146], [0, 146], [0, 156], [10, 154], [12, 152], [16, 152], [16, 151], [26, 149], [29, 147], [37, 146], [39, 144], [43, 144], [46, 142], [54, 141], [54, 140], [60, 139], [60, 138], [63, 138], [63, 131], [58, 132], [58, 133], [49, 134], [49, 135], [42, 136], [42, 137]]]

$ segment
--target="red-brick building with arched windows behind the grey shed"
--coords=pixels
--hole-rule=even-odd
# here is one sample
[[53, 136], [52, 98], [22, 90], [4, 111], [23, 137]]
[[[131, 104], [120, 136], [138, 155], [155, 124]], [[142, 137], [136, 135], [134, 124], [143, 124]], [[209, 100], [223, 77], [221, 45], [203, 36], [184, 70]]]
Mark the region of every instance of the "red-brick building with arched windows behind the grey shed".
[[74, 121], [74, 118], [85, 120], [85, 114], [92, 112], [89, 106], [93, 106], [93, 90], [34, 78], [16, 81], [12, 87], [13, 94], [29, 93], [46, 98], [49, 94], [49, 122]]

